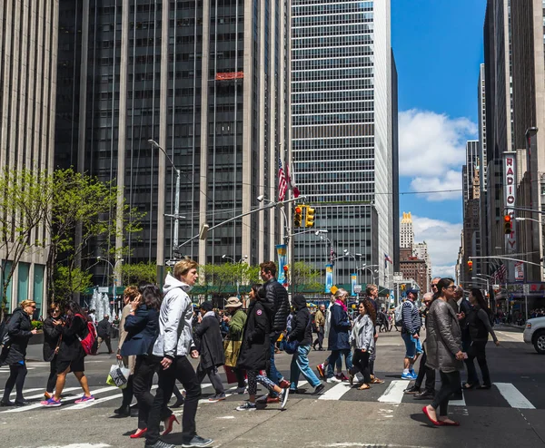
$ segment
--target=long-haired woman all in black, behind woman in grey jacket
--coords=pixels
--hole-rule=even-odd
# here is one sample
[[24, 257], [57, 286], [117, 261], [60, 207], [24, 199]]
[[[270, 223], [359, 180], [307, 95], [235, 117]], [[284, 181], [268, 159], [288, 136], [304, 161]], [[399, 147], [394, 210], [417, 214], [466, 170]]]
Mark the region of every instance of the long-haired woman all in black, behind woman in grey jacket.
[[[466, 360], [468, 382], [463, 387], [464, 389], [472, 389], [473, 387], [477, 387], [477, 389], [490, 389], [492, 384], [486, 362], [486, 344], [488, 343], [489, 334], [492, 336], [496, 346], [500, 345], [500, 341], [498, 341], [498, 337], [496, 337], [490, 325], [491, 311], [486, 304], [486, 300], [482, 297], [481, 289], [476, 287], [471, 289], [470, 303], [472, 309], [468, 316], [468, 326], [470, 329], [471, 346], [468, 349], [468, 358]], [[477, 376], [477, 369], [474, 362], [475, 358], [477, 358], [477, 362], [481, 368], [482, 385], [479, 384], [479, 376]]]

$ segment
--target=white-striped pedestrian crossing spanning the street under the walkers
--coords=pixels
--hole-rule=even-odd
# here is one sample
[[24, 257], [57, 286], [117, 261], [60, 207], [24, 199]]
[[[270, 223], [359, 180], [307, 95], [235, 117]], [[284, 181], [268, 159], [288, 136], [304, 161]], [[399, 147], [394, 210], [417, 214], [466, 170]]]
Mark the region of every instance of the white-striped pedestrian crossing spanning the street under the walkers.
[[[306, 381], [299, 382], [298, 393], [290, 394], [291, 400], [318, 400], [319, 402], [328, 401], [360, 401], [360, 402], [378, 402], [386, 405], [399, 405], [399, 404], [427, 404], [429, 401], [415, 400], [412, 395], [404, 394], [403, 391], [411, 384], [408, 380], [391, 379], [386, 380], [383, 385], [372, 385], [369, 390], [360, 391], [357, 385], [351, 386], [347, 382], [337, 384], [326, 384], [324, 393], [321, 395], [312, 395], [312, 387], [308, 385]], [[154, 385], [153, 389], [157, 386]], [[222, 405], [222, 406], [236, 406], [243, 402], [247, 398], [246, 394], [234, 394], [236, 385], [225, 385], [225, 393], [227, 399], [223, 402], [214, 404], [208, 401], [208, 397], [214, 394], [212, 385], [204, 383], [203, 398], [200, 400], [200, 404], [208, 405]], [[461, 400], [451, 401], [450, 405], [453, 407], [463, 408], [467, 412], [468, 408], [472, 406], [478, 407], [511, 407], [517, 409], [545, 409], [545, 400], [539, 398], [539, 394], [536, 394], [538, 385], [526, 383], [513, 385], [511, 383], [494, 383], [490, 390], [471, 390], [464, 391]], [[439, 390], [440, 385], [436, 385], [436, 389]], [[259, 394], [265, 394], [263, 387], [258, 390]], [[3, 391], [0, 391], [0, 394]], [[25, 414], [32, 411], [35, 412], [66, 412], [81, 410], [84, 411], [91, 407], [111, 407], [112, 410], [119, 406], [122, 391], [112, 387], [91, 387], [91, 393], [94, 394], [95, 400], [93, 402], [74, 404], [74, 401], [82, 396], [82, 389], [79, 386], [66, 387], [64, 389], [63, 405], [53, 409], [44, 409], [40, 404], [40, 401], [44, 399], [44, 389], [30, 388], [25, 389], [25, 399], [32, 402], [23, 407], [10, 407], [0, 408], [0, 414]], [[15, 399], [15, 393], [12, 394], [11, 399]], [[134, 400], [135, 402], [135, 400]], [[325, 403], [323, 403], [325, 404]], [[288, 401], [289, 407], [289, 401]]]

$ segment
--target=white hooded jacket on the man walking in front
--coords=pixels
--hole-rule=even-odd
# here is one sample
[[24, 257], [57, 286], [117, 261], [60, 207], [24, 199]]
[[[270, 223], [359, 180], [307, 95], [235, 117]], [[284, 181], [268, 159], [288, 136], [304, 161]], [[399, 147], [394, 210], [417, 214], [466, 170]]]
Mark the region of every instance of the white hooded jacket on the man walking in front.
[[193, 346], [193, 305], [187, 293], [191, 289], [171, 274], [166, 275], [154, 355], [173, 358], [190, 354]]

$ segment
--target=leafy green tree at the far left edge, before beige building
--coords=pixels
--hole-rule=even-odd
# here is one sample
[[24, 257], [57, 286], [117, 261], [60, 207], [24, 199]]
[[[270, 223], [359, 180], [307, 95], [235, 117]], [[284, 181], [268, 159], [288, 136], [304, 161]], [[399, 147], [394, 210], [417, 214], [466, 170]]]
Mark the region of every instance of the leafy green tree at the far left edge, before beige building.
[[[0, 177], [0, 319], [7, 288], [23, 255], [44, 247], [41, 225], [52, 200], [52, 177], [45, 170], [4, 170]], [[11, 263], [8, 263], [7, 261]], [[8, 268], [9, 267], [9, 268]]]

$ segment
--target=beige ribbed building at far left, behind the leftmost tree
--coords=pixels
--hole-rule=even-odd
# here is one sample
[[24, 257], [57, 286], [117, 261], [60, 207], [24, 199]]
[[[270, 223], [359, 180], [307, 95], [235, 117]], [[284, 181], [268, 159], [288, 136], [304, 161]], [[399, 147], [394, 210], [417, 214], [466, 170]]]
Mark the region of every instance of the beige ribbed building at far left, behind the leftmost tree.
[[[5, 0], [0, 6], [0, 170], [54, 167], [57, 15], [54, 0]], [[5, 272], [12, 270], [13, 259], [2, 254], [0, 262]], [[32, 299], [35, 318], [45, 316], [45, 262], [45, 250], [19, 260], [5, 297], [9, 312]]]

